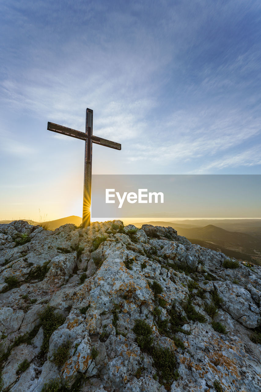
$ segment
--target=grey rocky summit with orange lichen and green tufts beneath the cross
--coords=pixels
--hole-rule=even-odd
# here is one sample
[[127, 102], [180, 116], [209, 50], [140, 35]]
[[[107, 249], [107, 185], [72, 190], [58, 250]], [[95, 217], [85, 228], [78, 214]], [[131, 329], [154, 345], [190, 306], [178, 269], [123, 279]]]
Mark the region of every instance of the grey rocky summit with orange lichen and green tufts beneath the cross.
[[0, 225], [0, 390], [260, 392], [261, 267], [171, 227]]

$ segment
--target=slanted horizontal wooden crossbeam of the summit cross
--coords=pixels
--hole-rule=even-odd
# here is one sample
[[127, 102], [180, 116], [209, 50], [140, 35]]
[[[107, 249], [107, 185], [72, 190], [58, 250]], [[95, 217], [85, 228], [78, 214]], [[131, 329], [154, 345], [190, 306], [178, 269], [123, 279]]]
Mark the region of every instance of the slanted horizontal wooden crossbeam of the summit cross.
[[[47, 129], [49, 131], [57, 132], [62, 135], [72, 136], [73, 138], [76, 138], [76, 139], [81, 139], [81, 140], [88, 139], [88, 134], [85, 132], [76, 131], [76, 129], [63, 127], [63, 125], [58, 125], [58, 124], [51, 123], [51, 122], [48, 122]], [[110, 147], [115, 150], [121, 150], [120, 143], [112, 142], [111, 140], [99, 138], [98, 136], [93, 136], [93, 135], [91, 136], [91, 140], [95, 144], [99, 144], [99, 145], [102, 145], [105, 147]]]

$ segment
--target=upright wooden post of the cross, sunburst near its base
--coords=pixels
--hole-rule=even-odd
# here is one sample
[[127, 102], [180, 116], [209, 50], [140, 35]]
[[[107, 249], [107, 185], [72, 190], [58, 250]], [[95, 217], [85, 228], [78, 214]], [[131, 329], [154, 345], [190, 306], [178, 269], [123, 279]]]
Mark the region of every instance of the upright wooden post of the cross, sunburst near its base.
[[83, 227], [90, 226], [91, 222], [91, 192], [92, 192], [92, 122], [93, 111], [86, 109], [85, 133], [85, 166], [83, 185]]

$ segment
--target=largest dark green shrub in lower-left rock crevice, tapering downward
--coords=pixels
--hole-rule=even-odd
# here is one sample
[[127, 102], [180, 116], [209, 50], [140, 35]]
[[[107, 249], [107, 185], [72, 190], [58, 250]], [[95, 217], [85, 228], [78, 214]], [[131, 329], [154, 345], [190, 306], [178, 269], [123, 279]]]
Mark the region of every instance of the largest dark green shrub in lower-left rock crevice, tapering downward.
[[54, 314], [54, 309], [47, 305], [47, 308], [40, 313], [40, 321], [43, 327], [43, 344], [41, 345], [41, 351], [43, 353], [48, 352], [49, 339], [51, 334], [65, 322], [65, 318], [61, 314]]

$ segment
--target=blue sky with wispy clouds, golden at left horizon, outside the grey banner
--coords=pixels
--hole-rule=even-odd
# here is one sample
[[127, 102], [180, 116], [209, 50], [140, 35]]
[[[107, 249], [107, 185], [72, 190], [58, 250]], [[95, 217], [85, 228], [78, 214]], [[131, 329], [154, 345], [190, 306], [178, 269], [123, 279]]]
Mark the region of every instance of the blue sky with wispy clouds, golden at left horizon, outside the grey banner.
[[86, 107], [93, 174], [261, 174], [260, 1], [0, 10], [0, 220], [81, 216]]

